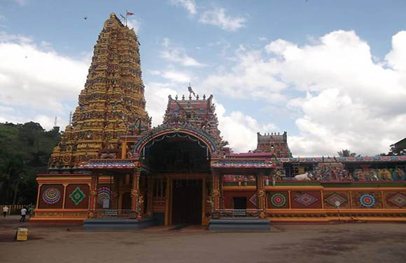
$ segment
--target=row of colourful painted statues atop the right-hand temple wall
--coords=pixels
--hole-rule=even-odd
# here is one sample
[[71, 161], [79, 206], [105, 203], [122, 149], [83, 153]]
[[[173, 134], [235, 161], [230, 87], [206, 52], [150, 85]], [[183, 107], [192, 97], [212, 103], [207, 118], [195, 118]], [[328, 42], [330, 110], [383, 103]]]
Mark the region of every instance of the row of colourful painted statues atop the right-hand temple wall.
[[[384, 168], [384, 169], [356, 169], [353, 173], [345, 168], [315, 168], [312, 171], [295, 177], [286, 177], [284, 169], [276, 170], [273, 177], [265, 177], [265, 184], [270, 184], [276, 180], [323, 180], [323, 181], [388, 181], [388, 180], [406, 180], [406, 172], [402, 168]], [[224, 182], [236, 182], [238, 185], [247, 185], [255, 182], [253, 175], [225, 175]]]

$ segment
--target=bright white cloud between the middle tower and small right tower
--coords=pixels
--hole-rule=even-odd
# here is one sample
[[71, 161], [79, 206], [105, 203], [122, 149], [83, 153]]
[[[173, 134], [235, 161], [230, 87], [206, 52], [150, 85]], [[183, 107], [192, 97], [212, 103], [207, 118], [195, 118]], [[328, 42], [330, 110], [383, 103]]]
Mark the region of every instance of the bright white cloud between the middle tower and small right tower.
[[265, 133], [276, 128], [273, 123], [261, 124], [242, 112], [226, 114], [222, 104], [216, 103], [218, 128], [233, 151], [246, 152], [256, 149], [257, 132]]

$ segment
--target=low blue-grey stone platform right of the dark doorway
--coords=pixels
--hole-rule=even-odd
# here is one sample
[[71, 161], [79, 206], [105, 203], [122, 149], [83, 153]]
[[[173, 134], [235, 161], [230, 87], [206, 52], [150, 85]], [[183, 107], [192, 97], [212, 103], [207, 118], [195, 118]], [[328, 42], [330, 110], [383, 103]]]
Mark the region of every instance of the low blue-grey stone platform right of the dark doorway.
[[209, 222], [209, 230], [263, 232], [270, 231], [271, 224], [269, 223], [269, 220], [260, 219], [212, 219]]

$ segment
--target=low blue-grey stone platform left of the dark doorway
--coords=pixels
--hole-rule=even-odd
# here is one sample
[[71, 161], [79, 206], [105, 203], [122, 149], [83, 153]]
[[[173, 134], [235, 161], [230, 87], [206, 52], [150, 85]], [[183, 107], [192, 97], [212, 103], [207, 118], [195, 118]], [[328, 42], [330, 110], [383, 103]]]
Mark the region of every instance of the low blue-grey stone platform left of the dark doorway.
[[156, 224], [155, 218], [137, 219], [88, 219], [83, 221], [83, 230], [87, 231], [125, 231], [140, 230]]

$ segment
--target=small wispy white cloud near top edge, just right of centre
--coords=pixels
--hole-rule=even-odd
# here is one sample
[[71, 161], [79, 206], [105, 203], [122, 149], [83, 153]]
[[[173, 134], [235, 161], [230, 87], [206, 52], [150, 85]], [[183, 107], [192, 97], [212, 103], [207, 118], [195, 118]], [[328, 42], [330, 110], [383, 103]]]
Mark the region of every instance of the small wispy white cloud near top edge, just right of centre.
[[221, 29], [227, 31], [237, 31], [238, 29], [245, 27], [246, 18], [232, 17], [225, 13], [224, 8], [214, 8], [213, 10], [202, 13], [199, 22], [221, 27]]

